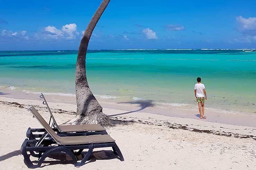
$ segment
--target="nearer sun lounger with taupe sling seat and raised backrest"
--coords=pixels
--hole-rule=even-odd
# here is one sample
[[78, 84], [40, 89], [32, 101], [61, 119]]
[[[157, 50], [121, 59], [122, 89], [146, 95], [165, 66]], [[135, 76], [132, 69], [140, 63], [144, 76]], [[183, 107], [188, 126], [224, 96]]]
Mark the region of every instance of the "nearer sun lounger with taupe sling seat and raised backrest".
[[[40, 122], [40, 124], [42, 124], [47, 134], [51, 136], [51, 138], [46, 139], [46, 135], [46, 137], [43, 138], [40, 142], [36, 139], [25, 139], [21, 146], [21, 152], [24, 156], [24, 162], [28, 166], [28, 168], [40, 167], [46, 157], [56, 152], [64, 152], [65, 154], [70, 155], [74, 162], [74, 166], [79, 167], [82, 166], [86, 162], [86, 160], [88, 160], [94, 148], [105, 147], [112, 147], [113, 152], [119, 157], [121, 161], [124, 161], [120, 149], [118, 148], [115, 140], [112, 139], [109, 134], [92, 136], [65, 136], [65, 134], [61, 134], [62, 136], [59, 136], [54, 132], [54, 130], [49, 126], [49, 124], [44, 120], [44, 118], [37, 112], [37, 110], [33, 106], [31, 106], [28, 110], [30, 110], [31, 113]], [[84, 149], [89, 150], [84, 155], [82, 161], [77, 162], [75, 156], [80, 155]], [[79, 151], [75, 153], [74, 150]], [[30, 156], [39, 158], [37, 164], [33, 164], [31, 162], [27, 152], [30, 152]], [[36, 154], [35, 152], [38, 152], [38, 154]]]

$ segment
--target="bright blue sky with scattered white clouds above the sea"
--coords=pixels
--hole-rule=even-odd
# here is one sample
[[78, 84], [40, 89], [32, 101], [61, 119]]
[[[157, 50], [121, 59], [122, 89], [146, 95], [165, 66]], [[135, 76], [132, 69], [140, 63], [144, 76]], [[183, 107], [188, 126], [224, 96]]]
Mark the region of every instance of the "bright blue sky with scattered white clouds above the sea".
[[[256, 48], [256, 1], [111, 0], [88, 49]], [[100, 0], [0, 2], [0, 50], [77, 50]]]

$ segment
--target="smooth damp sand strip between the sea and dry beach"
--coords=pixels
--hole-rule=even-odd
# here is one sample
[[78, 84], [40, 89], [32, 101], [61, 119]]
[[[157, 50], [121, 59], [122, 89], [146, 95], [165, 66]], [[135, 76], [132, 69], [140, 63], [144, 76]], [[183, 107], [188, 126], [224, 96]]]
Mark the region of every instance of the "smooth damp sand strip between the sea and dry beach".
[[[10, 100], [12, 101], [15, 101], [15, 99], [40, 100], [39, 94], [26, 93], [16, 90], [5, 90], [0, 94], [0, 101], [6, 100], [4, 98], [10, 98]], [[74, 96], [45, 95], [45, 97], [48, 102], [73, 104], [76, 108], [76, 100]], [[207, 108], [207, 105], [205, 105], [205, 116], [207, 117], [207, 119], [199, 119], [199, 112], [196, 108], [196, 103], [195, 106], [188, 108], [183, 106], [157, 106], [154, 105], [151, 101], [144, 100], [116, 102], [111, 99], [101, 99], [97, 96], [96, 98], [103, 107], [103, 112], [106, 109], [119, 111], [119, 113], [117, 114], [112, 114], [113, 116], [122, 116], [129, 113], [149, 113], [173, 118], [188, 118], [204, 122], [256, 127], [256, 114], [230, 112], [223, 113], [219, 112], [218, 109], [209, 110], [209, 108]], [[76, 110], [74, 110], [74, 112], [75, 111]], [[111, 115], [111, 113], [109, 113], [109, 115]]]

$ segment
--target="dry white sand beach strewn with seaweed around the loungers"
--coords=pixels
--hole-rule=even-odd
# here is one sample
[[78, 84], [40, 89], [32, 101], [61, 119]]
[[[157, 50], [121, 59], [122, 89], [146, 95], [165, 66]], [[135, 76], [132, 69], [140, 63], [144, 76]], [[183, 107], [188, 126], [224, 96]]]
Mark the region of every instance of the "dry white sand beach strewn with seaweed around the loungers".
[[[28, 127], [41, 128], [30, 104], [49, 119], [42, 100], [0, 97], [0, 169], [28, 169], [20, 146]], [[58, 123], [72, 119], [75, 104], [49, 102]], [[79, 169], [256, 169], [256, 128], [104, 108], [125, 161], [111, 148], [94, 149]], [[132, 111], [132, 110], [131, 110]], [[125, 113], [125, 114], [124, 114]], [[75, 169], [65, 155], [47, 158], [42, 169]]]

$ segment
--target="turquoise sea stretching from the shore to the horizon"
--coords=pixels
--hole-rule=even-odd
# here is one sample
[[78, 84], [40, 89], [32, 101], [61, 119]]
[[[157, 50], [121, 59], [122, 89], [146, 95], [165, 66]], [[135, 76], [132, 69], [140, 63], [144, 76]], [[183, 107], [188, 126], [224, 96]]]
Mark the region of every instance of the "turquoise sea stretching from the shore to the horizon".
[[[75, 93], [77, 51], [0, 51], [0, 92]], [[196, 105], [201, 77], [206, 107], [230, 113], [256, 111], [256, 52], [243, 50], [88, 50], [86, 73], [98, 98]], [[2, 89], [2, 90], [1, 90]]]

